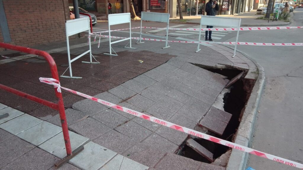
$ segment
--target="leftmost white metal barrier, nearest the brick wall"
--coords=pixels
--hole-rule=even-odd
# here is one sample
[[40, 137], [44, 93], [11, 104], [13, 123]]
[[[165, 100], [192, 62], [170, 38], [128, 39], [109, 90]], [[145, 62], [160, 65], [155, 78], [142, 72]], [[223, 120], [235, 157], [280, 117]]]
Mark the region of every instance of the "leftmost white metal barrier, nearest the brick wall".
[[66, 44], [67, 44], [67, 55], [68, 55], [68, 68], [69, 68], [70, 76], [63, 76], [63, 74], [68, 70], [68, 68], [67, 68], [60, 77], [81, 79], [82, 77], [73, 77], [73, 75], [72, 75], [72, 62], [74, 62], [75, 60], [84, 56], [87, 53], [89, 53], [90, 62], [82, 61], [82, 63], [100, 64], [100, 62], [92, 62], [92, 48], [91, 48], [91, 39], [90, 38], [88, 38], [89, 50], [85, 51], [84, 53], [80, 54], [79, 56], [77, 56], [77, 57], [75, 57], [71, 60], [71, 55], [70, 55], [70, 52], [69, 52], [68, 37], [72, 36], [72, 35], [75, 35], [75, 34], [78, 34], [80, 32], [83, 32], [83, 31], [88, 31], [88, 33], [90, 34], [91, 29], [90, 29], [89, 18], [85, 17], [85, 18], [67, 20], [67, 21], [65, 21], [65, 30], [66, 30]]

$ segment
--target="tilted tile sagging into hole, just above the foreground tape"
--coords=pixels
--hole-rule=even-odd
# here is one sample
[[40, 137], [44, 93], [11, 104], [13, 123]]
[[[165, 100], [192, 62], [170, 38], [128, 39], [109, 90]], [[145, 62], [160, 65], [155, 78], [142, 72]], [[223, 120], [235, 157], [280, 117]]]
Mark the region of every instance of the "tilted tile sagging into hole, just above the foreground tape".
[[209, 129], [212, 132], [222, 135], [227, 126], [227, 123], [222, 122], [221, 120], [216, 119], [212, 116], [206, 115], [200, 121], [199, 125]]

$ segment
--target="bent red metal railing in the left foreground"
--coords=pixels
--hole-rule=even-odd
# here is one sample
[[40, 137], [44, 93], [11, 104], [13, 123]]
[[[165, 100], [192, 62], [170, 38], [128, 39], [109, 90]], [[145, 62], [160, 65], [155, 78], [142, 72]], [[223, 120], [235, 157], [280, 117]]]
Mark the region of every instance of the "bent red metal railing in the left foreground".
[[[5, 43], [2, 43], [2, 42], [0, 42], [0, 48], [6, 48], [6, 49], [14, 50], [14, 51], [20, 51], [20, 52], [35, 54], [35, 55], [44, 57], [45, 60], [47, 60], [47, 62], [49, 64], [49, 67], [51, 69], [52, 78], [54, 78], [56, 80], [59, 80], [56, 63], [55, 63], [54, 59], [52, 58], [52, 56], [49, 55], [47, 52], [32, 49], [32, 48], [27, 48], [27, 47], [5, 44]], [[24, 97], [28, 100], [32, 100], [34, 102], [40, 103], [44, 106], [48, 106], [52, 109], [58, 110], [59, 114], [60, 114], [60, 119], [61, 119], [61, 125], [62, 125], [62, 131], [63, 131], [63, 136], [64, 136], [66, 154], [67, 154], [67, 156], [72, 155], [72, 147], [71, 147], [69, 134], [68, 134], [68, 127], [67, 127], [67, 122], [66, 122], [66, 116], [65, 116], [65, 109], [64, 109], [62, 94], [57, 91], [57, 87], [55, 87], [55, 93], [56, 93], [56, 97], [58, 98], [58, 103], [52, 103], [50, 101], [38, 98], [36, 96], [32, 96], [30, 94], [21, 92], [19, 90], [7, 87], [7, 86], [2, 85], [2, 84], [0, 84], [0, 89], [8, 91], [8, 92], [13, 93], [13, 94], [16, 94], [18, 96]]]

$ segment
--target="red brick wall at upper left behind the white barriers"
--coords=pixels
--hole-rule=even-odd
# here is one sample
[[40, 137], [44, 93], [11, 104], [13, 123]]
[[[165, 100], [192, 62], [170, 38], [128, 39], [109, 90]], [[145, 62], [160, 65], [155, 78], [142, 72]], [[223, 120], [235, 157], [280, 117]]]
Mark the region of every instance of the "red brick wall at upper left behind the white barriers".
[[11, 44], [34, 46], [66, 39], [68, 0], [3, 0], [3, 5]]

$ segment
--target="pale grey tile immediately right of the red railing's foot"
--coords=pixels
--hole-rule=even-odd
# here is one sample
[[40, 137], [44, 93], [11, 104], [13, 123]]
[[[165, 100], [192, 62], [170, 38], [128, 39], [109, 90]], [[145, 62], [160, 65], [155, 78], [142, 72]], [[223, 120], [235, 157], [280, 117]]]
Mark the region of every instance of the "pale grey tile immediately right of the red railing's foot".
[[72, 158], [69, 163], [81, 169], [95, 170], [101, 168], [117, 153], [94, 142], [84, 145], [84, 150]]

